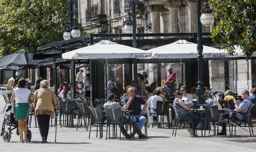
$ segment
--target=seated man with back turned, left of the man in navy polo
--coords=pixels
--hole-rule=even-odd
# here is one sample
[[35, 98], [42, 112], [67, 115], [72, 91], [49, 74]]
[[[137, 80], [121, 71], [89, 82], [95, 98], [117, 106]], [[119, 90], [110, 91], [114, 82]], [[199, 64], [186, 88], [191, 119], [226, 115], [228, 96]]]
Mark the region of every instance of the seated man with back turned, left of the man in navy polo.
[[[110, 93], [107, 96], [107, 102], [103, 106], [104, 106], [104, 108], [117, 108], [117, 107], [120, 107], [122, 111], [124, 110], [123, 107], [121, 107], [117, 102], [114, 102], [114, 94], [113, 93]], [[128, 121], [130, 121], [130, 124], [133, 126], [133, 129], [135, 130], [135, 132], [139, 135], [139, 138], [147, 138], [147, 136], [142, 134], [142, 132], [139, 129], [139, 127], [137, 126], [137, 123], [136, 123], [135, 120], [133, 120], [133, 119], [129, 120], [129, 117], [126, 116], [124, 118], [124, 122], [128, 122]], [[133, 135], [130, 135], [130, 134], [126, 133], [126, 129], [124, 129], [123, 125], [122, 126], [119, 125], [119, 128], [121, 129], [122, 134], [126, 138], [131, 138], [133, 136]]]

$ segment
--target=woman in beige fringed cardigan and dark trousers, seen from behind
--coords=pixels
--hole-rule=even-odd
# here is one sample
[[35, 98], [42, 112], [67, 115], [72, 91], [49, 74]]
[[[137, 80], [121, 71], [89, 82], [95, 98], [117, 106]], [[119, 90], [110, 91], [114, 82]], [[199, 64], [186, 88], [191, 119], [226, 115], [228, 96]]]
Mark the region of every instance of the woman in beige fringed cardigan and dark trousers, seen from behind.
[[54, 118], [54, 108], [57, 104], [57, 97], [48, 89], [49, 82], [40, 82], [40, 88], [34, 92], [31, 100], [34, 101], [34, 116], [37, 117], [42, 143], [47, 143], [50, 117]]

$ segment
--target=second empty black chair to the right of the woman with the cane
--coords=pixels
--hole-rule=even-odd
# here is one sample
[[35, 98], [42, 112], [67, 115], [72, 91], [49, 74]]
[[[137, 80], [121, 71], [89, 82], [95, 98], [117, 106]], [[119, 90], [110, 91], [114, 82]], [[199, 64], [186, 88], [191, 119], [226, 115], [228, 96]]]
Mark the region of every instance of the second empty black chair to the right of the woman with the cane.
[[[78, 106], [78, 120], [81, 119], [81, 127], [82, 127], [82, 118], [84, 119], [85, 128], [86, 128], [86, 125], [87, 125], [86, 118], [88, 118], [88, 125], [87, 125], [87, 131], [88, 131], [89, 120], [91, 118], [91, 113], [90, 113], [90, 110], [88, 108], [89, 103], [88, 102], [77, 103], [77, 106]], [[77, 122], [77, 126], [76, 126], [76, 131], [78, 131], [78, 122]]]

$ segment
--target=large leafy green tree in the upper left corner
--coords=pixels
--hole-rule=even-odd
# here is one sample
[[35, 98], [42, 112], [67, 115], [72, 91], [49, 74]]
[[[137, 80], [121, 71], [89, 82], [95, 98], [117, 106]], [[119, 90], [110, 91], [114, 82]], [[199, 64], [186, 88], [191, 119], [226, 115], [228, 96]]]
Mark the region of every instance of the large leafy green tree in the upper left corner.
[[[63, 41], [68, 0], [2, 0], [0, 56]], [[81, 35], [84, 34], [83, 30]]]

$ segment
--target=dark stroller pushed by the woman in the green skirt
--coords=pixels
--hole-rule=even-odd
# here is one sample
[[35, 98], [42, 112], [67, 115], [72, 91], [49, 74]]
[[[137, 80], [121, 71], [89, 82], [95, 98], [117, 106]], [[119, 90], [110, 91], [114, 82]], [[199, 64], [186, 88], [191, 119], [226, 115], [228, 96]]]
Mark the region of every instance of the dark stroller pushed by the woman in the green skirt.
[[[11, 104], [8, 106], [6, 112], [11, 110]], [[28, 119], [27, 119], [28, 124]], [[14, 113], [7, 114], [5, 113], [4, 121], [2, 123], [2, 131], [0, 136], [3, 136], [4, 141], [9, 142], [11, 139], [12, 130], [17, 128], [16, 134], [19, 136], [18, 132], [18, 123], [14, 118]], [[27, 127], [27, 140], [31, 141], [32, 133]]]

